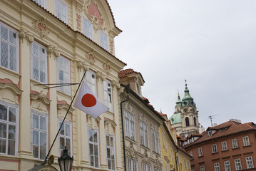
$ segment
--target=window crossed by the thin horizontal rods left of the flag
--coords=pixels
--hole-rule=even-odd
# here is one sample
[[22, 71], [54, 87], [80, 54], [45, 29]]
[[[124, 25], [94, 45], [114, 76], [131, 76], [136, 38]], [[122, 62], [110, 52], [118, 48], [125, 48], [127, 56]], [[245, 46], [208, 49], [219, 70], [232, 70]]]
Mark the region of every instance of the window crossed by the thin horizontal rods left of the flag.
[[[70, 61], [63, 56], [58, 56], [57, 58], [57, 78], [58, 83], [71, 83], [70, 81]], [[58, 90], [63, 93], [70, 94], [70, 86], [58, 87]]]

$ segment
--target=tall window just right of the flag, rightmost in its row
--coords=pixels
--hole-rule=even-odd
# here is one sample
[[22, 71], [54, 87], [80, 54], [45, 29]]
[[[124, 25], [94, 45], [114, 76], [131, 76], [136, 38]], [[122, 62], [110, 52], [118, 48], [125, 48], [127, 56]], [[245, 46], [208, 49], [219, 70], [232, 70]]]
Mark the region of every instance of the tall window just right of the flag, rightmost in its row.
[[110, 81], [103, 81], [104, 105], [112, 111], [112, 86]]

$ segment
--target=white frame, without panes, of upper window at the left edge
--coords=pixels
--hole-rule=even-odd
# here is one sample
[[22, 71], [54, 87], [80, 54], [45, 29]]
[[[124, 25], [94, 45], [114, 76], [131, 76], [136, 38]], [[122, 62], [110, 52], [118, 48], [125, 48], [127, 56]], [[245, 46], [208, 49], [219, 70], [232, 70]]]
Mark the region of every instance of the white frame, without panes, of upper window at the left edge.
[[[19, 32], [16, 31], [15, 29], [11, 28], [10, 26], [7, 26], [6, 24], [4, 24], [0, 21], [0, 33], [1, 33], [1, 30], [3, 28], [7, 29], [7, 37], [6, 37], [7, 40], [5, 38], [2, 38], [2, 36], [0, 34], [0, 52], [1, 52], [1, 46], [3, 46], [2, 42], [4, 44], [7, 44], [7, 56], [6, 56], [7, 57], [7, 66], [2, 66], [1, 61], [2, 61], [2, 58], [4, 58], [4, 57], [1, 56], [1, 55], [0, 55], [0, 66], [3, 67], [3, 68], [8, 69], [10, 71], [14, 71], [16, 73], [19, 73]], [[13, 36], [15, 36], [16, 41], [15, 40], [13, 40], [13, 41], [10, 40], [11, 39], [11, 37], [10, 37], [11, 33], [13, 33]], [[14, 59], [14, 60], [16, 60], [16, 63], [15, 63], [16, 67], [15, 68], [11, 68], [11, 66], [10, 66], [10, 61], [11, 61], [10, 48], [11, 47], [16, 48], [16, 56], [15, 56], [15, 59]]]

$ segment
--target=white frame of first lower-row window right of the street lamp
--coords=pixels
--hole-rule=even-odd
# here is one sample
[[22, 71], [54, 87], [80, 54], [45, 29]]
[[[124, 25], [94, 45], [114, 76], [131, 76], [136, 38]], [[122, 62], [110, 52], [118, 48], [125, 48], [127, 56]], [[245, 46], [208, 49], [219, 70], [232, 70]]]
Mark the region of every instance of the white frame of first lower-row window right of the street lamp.
[[[93, 135], [94, 133], [97, 133], [97, 142], [94, 142], [94, 138], [93, 138], [93, 141], [90, 140], [90, 131], [92, 133], [92, 138], [93, 138]], [[91, 165], [91, 167], [96, 167], [96, 168], [100, 168], [100, 165], [101, 165], [101, 162], [100, 162], [100, 151], [99, 151], [99, 139], [98, 139], [98, 130], [93, 130], [91, 128], [88, 128], [88, 155], [89, 155], [89, 165]], [[93, 154], [90, 154], [91, 150], [90, 150], [90, 146], [93, 146]], [[95, 146], [97, 146], [97, 152], [98, 152], [98, 155], [96, 155], [95, 153]], [[93, 157], [93, 162], [91, 161], [91, 157]], [[96, 165], [96, 159], [98, 159], [98, 165]]]

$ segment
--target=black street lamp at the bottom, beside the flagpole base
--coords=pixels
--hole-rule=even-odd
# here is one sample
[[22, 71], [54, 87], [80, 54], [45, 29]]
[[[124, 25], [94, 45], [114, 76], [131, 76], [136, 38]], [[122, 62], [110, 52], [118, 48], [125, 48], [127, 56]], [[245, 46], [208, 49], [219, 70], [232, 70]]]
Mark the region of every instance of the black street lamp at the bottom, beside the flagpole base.
[[60, 165], [61, 171], [71, 171], [72, 170], [72, 164], [73, 164], [73, 157], [70, 157], [68, 155], [68, 149], [63, 150], [63, 155], [61, 157], [58, 157], [58, 165]]

